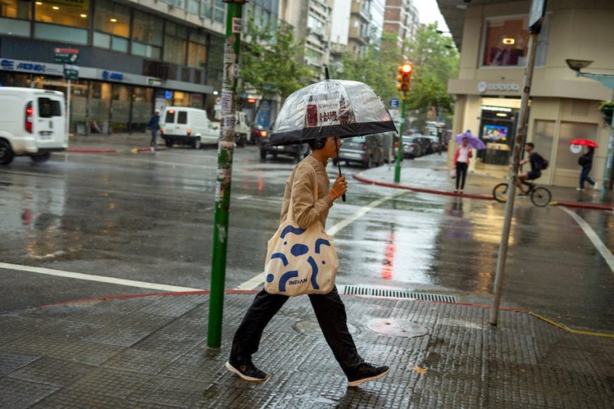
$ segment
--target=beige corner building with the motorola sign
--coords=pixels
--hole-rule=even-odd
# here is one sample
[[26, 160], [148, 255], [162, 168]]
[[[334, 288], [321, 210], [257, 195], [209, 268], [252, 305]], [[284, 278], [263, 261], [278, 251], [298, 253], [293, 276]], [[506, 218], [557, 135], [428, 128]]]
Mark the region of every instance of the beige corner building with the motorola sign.
[[[457, 46], [459, 78], [453, 133], [471, 130], [487, 149], [478, 152], [474, 171], [505, 174], [518, 126], [520, 98], [529, 42], [530, 1], [438, 0]], [[578, 78], [565, 59], [591, 60], [588, 71], [614, 72], [614, 3], [601, 0], [550, 1], [538, 36], [526, 141], [548, 159], [539, 183], [576, 187], [579, 153], [570, 140], [597, 142], [591, 176], [601, 185], [610, 128], [599, 104], [613, 91], [595, 80]], [[450, 144], [452, 166], [454, 144]], [[606, 181], [608, 183], [608, 181]]]

